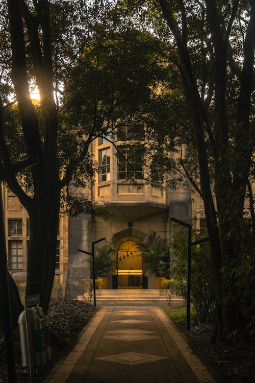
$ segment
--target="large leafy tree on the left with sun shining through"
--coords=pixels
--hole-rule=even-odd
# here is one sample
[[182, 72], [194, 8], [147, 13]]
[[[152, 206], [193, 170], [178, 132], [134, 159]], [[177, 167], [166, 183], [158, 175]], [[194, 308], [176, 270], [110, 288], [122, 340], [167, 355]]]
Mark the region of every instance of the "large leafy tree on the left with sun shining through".
[[[90, 143], [109, 129], [114, 131], [120, 116], [123, 123], [141, 112], [160, 70], [157, 55], [142, 49], [143, 34], [111, 3], [70, 6], [8, 0], [7, 4], [18, 113], [16, 107], [8, 109], [7, 96], [1, 109], [1, 166], [5, 169], [33, 155], [40, 161], [19, 178], [9, 178], [8, 185], [30, 217], [26, 294], [39, 294], [46, 311], [61, 204], [74, 208], [73, 214], [91, 211], [90, 201], [73, 197], [69, 186], [89, 186], [97, 166], [88, 150]], [[8, 63], [3, 66], [6, 84], [12, 87]], [[39, 89], [39, 106], [31, 101], [31, 84]], [[2, 94], [7, 94], [3, 88]], [[33, 196], [26, 193], [28, 184]], [[17, 315], [18, 310], [15, 319]]]

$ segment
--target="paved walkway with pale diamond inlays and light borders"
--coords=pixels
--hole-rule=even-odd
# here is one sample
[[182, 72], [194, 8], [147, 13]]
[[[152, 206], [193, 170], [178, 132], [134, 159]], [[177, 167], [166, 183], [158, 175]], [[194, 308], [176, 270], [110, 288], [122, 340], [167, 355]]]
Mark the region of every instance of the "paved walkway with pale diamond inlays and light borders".
[[48, 383], [216, 383], [159, 307], [103, 307]]

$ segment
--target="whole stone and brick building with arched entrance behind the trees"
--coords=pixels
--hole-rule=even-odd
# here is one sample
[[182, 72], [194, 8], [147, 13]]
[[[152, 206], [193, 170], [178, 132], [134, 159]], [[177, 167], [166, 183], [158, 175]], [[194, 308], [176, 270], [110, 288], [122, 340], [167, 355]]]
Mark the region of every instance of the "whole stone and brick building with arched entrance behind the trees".
[[[123, 156], [132, 158], [134, 147], [122, 142]], [[131, 153], [132, 152], [132, 153]], [[125, 161], [116, 156], [116, 147], [107, 139], [98, 138], [91, 145], [91, 153], [100, 166], [92, 189], [81, 190], [98, 206], [94, 215], [84, 214], [77, 218], [63, 217], [60, 220], [56, 246], [55, 290], [77, 298], [83, 293], [82, 279], [90, 278], [90, 256], [79, 249], [91, 252], [91, 244], [100, 238], [113, 242], [116, 261], [113, 276], [108, 276], [108, 289], [143, 288], [154, 289], [155, 278], [146, 276], [137, 243], [146, 240], [154, 231], [167, 241], [173, 232], [170, 217], [191, 223], [195, 218], [197, 229], [206, 229], [205, 210], [201, 198], [191, 193], [191, 188], [177, 190], [161, 187], [158, 182], [141, 185], [140, 188], [126, 181], [130, 169]], [[132, 154], [132, 155], [131, 155]], [[136, 162], [136, 174], [142, 172]], [[29, 241], [29, 217], [17, 197], [3, 186], [3, 204], [8, 251], [8, 265], [13, 277], [25, 278], [27, 248]], [[254, 189], [254, 185], [253, 185]], [[101, 242], [97, 246], [102, 246]]]

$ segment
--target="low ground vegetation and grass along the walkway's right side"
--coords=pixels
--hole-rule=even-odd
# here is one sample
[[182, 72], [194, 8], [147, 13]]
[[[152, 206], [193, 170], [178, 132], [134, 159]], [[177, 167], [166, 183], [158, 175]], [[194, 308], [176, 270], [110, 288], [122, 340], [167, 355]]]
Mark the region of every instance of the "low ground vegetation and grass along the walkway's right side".
[[186, 331], [185, 307], [171, 306], [163, 309], [217, 383], [252, 383], [254, 381], [254, 343], [243, 340], [238, 344], [220, 347], [211, 342], [214, 321], [198, 325], [196, 314], [191, 309], [191, 327], [190, 331]]

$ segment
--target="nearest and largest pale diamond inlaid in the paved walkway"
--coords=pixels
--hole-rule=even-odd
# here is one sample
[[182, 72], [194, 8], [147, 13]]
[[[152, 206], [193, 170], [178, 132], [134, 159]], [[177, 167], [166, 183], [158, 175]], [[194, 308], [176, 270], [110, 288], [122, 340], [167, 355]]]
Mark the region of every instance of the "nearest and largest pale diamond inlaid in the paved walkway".
[[140, 352], [125, 352], [123, 354], [107, 355], [96, 357], [100, 361], [121, 363], [124, 365], [134, 366], [142, 363], [157, 362], [168, 359], [165, 356], [142, 354]]

